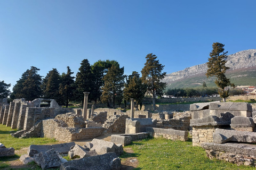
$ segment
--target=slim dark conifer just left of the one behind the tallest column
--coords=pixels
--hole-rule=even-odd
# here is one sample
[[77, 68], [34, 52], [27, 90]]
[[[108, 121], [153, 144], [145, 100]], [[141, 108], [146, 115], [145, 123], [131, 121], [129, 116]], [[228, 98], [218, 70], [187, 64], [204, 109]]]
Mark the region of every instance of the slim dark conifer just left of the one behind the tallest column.
[[62, 97], [63, 103], [65, 103], [66, 107], [68, 107], [68, 103], [71, 99], [74, 97], [74, 91], [75, 91], [75, 81], [73, 76], [74, 72], [71, 72], [69, 66], [67, 66], [67, 73], [62, 73], [61, 75], [61, 83], [59, 92]]

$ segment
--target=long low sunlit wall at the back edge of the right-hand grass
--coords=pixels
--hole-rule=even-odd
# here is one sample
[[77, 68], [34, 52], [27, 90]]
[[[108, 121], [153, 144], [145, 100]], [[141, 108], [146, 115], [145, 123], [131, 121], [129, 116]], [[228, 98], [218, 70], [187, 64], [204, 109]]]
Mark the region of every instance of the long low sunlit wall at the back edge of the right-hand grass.
[[165, 138], [170, 140], [188, 140], [188, 131], [178, 131], [172, 129], [161, 129], [161, 128], [146, 128], [151, 137], [154, 138]]

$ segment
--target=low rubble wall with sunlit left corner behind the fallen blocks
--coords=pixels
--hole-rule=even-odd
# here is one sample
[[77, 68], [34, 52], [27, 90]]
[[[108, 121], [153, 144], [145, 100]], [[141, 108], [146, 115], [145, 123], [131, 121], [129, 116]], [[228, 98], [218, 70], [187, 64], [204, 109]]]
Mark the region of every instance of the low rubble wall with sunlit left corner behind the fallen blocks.
[[102, 134], [103, 128], [69, 128], [61, 120], [49, 119], [42, 121], [41, 138], [54, 138], [58, 141], [70, 142], [78, 139], [91, 139]]

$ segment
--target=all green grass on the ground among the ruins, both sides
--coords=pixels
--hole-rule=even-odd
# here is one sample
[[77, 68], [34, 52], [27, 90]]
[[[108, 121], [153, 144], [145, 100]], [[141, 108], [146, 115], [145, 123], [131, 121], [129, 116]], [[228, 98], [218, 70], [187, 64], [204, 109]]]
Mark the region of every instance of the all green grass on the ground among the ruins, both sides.
[[[0, 142], [7, 148], [13, 147], [15, 150], [28, 147], [29, 145], [53, 144], [58, 141], [46, 138], [19, 139], [12, 138], [12, 129], [0, 124]], [[121, 155], [122, 161], [129, 157], [137, 157], [139, 166], [136, 169], [255, 169], [247, 166], [237, 166], [220, 160], [211, 160], [206, 157], [205, 151], [201, 147], [193, 147], [192, 142], [171, 141], [166, 139], [145, 139], [134, 141], [125, 148], [132, 148], [134, 153]], [[0, 158], [0, 169], [9, 169], [9, 161], [14, 157]], [[41, 169], [35, 163], [34, 169]], [[28, 169], [28, 168], [18, 168]]]

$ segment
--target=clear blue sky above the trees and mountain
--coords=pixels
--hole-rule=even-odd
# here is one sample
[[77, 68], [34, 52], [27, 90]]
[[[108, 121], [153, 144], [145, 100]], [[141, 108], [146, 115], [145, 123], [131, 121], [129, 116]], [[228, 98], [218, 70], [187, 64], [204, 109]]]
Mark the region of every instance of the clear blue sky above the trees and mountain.
[[[140, 73], [153, 53], [172, 73], [207, 62], [212, 44], [228, 54], [255, 49], [256, 1], [0, 0], [0, 80], [13, 86], [30, 66], [42, 76], [82, 60], [116, 60]], [[12, 87], [11, 87], [12, 89]]]

